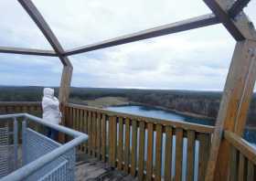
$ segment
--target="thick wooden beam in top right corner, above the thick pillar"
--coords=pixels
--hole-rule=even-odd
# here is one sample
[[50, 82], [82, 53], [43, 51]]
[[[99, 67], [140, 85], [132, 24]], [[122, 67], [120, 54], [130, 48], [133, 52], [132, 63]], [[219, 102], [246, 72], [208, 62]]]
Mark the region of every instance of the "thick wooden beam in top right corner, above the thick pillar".
[[248, 17], [241, 13], [235, 19], [229, 16], [229, 7], [234, 4], [234, 0], [204, 0], [212, 12], [219, 17], [224, 27], [237, 40], [256, 39], [256, 31]]

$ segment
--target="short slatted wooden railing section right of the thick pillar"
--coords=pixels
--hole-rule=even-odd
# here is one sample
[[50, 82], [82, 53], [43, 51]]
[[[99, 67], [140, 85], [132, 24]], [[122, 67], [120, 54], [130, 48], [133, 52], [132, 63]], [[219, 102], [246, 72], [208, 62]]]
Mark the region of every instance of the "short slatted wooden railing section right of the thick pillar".
[[239, 135], [225, 131], [224, 138], [231, 146], [229, 180], [256, 180], [256, 147]]

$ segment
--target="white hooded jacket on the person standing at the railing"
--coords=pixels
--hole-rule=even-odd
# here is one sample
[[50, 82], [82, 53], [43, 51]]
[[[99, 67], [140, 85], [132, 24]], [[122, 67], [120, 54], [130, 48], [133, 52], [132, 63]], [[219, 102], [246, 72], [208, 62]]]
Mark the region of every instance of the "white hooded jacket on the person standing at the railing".
[[59, 100], [54, 97], [53, 89], [44, 89], [42, 108], [44, 121], [57, 124], [61, 121], [61, 113], [59, 112]]

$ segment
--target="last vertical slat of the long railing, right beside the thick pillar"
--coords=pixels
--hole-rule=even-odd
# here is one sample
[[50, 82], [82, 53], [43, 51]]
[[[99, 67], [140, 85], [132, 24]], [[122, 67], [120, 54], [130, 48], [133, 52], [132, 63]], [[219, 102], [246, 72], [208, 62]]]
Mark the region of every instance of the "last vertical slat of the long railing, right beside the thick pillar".
[[198, 181], [205, 181], [208, 165], [210, 137], [206, 133], [199, 133], [197, 137], [199, 141]]

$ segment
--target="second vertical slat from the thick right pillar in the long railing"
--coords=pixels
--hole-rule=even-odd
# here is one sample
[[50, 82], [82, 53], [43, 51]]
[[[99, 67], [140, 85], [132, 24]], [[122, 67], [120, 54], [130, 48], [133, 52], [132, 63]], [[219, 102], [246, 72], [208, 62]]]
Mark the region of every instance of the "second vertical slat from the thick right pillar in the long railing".
[[196, 133], [187, 131], [187, 181], [194, 180]]

